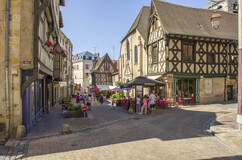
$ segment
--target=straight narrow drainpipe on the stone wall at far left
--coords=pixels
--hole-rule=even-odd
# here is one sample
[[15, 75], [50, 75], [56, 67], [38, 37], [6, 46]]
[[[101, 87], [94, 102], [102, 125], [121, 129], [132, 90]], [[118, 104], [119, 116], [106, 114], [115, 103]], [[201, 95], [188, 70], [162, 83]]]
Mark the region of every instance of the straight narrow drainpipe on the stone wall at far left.
[[6, 0], [6, 30], [5, 30], [5, 95], [6, 95], [6, 138], [10, 137], [10, 99], [9, 99], [9, 10], [10, 0]]

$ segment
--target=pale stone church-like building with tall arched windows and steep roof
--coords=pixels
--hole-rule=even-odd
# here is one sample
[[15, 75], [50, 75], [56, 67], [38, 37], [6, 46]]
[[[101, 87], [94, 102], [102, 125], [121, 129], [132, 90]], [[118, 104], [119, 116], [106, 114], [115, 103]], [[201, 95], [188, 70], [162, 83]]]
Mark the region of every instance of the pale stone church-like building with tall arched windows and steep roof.
[[143, 7], [126, 36], [121, 41], [119, 74], [122, 82], [140, 75], [147, 75], [145, 39], [150, 16], [150, 7]]

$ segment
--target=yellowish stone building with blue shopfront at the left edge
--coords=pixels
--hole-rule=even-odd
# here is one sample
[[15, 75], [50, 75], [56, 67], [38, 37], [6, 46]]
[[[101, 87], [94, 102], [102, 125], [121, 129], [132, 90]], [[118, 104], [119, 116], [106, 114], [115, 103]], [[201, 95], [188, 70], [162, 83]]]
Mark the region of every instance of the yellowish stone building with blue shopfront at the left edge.
[[53, 51], [63, 24], [59, 6], [65, 1], [0, 4], [0, 123], [8, 138], [19, 125], [29, 132], [52, 104]]

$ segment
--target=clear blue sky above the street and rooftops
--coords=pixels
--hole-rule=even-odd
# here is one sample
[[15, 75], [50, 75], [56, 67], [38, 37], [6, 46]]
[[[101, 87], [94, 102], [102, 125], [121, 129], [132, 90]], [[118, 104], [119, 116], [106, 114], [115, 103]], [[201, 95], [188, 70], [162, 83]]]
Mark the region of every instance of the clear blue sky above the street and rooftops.
[[[206, 0], [165, 0], [184, 6], [204, 8]], [[143, 6], [151, 0], [66, 0], [61, 7], [64, 28], [73, 44], [73, 55], [84, 51], [109, 54], [118, 59], [121, 40]]]

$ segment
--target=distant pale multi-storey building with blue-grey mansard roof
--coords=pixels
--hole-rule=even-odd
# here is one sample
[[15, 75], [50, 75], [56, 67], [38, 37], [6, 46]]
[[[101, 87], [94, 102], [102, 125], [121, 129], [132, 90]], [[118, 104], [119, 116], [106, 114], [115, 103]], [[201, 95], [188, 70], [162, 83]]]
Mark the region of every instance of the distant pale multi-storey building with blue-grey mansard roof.
[[93, 61], [99, 59], [99, 53], [92, 54], [88, 51], [76, 54], [72, 58], [74, 67], [74, 83], [81, 86], [81, 92], [88, 92], [89, 87], [89, 75], [91, 74], [91, 66]]

